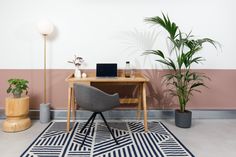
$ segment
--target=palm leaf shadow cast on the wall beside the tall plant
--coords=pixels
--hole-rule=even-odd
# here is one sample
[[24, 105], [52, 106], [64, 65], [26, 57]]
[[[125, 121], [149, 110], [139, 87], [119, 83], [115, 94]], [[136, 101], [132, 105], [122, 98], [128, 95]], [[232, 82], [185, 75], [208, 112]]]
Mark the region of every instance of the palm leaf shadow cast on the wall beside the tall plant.
[[[135, 29], [134, 31], [123, 33], [126, 40], [123, 40], [125, 45], [125, 52], [129, 55], [140, 54], [147, 49], [153, 49], [158, 37], [158, 33], [155, 30], [152, 31], [139, 31]], [[123, 36], [123, 37], [124, 37]], [[124, 38], [123, 38], [124, 39]], [[160, 71], [157, 71], [155, 64], [152, 64], [149, 56], [145, 56], [143, 65], [147, 62], [151, 63], [152, 69], [143, 71], [145, 77], [149, 79], [147, 84], [147, 101], [149, 107], [152, 108], [170, 108], [172, 103], [172, 96], [167, 94], [167, 90], [163, 84]], [[138, 60], [135, 60], [135, 67], [142, 67]], [[137, 93], [138, 88], [134, 90], [133, 95]]]

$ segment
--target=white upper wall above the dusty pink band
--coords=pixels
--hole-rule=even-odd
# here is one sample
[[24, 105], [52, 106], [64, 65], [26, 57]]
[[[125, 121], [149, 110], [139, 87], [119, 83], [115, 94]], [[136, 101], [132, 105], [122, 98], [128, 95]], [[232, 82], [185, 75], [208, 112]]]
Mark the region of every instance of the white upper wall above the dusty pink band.
[[[168, 13], [184, 32], [210, 37], [222, 51], [205, 46], [206, 62], [199, 69], [236, 69], [235, 0], [1, 0], [0, 69], [42, 69], [43, 38], [37, 22], [50, 19], [56, 30], [47, 43], [47, 66], [71, 69], [75, 53], [84, 68], [99, 62], [116, 62], [123, 68], [162, 68], [146, 49], [165, 49], [166, 34], [144, 22], [145, 17]], [[153, 38], [157, 35], [154, 42]]]

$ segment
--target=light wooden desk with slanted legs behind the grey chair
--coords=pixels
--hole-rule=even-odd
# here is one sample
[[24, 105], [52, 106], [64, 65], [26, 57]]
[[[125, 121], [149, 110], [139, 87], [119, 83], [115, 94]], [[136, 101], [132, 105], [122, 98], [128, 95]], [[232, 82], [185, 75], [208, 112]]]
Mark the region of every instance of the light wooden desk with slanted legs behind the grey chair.
[[71, 120], [71, 109], [72, 117], [75, 120], [76, 103], [74, 97], [73, 84], [81, 83], [86, 85], [91, 85], [91, 83], [109, 83], [109, 85], [138, 85], [138, 98], [123, 98], [120, 99], [120, 103], [138, 103], [137, 118], [140, 118], [141, 108], [143, 107], [143, 118], [144, 118], [144, 129], [148, 131], [147, 127], [147, 103], [146, 103], [146, 83], [148, 79], [137, 76], [134, 78], [116, 77], [116, 78], [97, 78], [97, 77], [87, 77], [87, 78], [75, 78], [74, 74], [68, 76], [65, 80], [68, 82], [68, 110], [67, 110], [67, 131], [70, 130], [70, 120]]

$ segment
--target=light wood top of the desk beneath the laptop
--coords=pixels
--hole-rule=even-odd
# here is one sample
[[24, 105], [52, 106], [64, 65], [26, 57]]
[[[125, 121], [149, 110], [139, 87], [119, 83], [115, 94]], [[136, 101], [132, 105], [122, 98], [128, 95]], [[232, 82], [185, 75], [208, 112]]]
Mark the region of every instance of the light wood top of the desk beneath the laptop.
[[148, 79], [143, 76], [137, 77], [86, 77], [86, 78], [75, 78], [74, 74], [68, 76], [66, 82], [148, 82]]

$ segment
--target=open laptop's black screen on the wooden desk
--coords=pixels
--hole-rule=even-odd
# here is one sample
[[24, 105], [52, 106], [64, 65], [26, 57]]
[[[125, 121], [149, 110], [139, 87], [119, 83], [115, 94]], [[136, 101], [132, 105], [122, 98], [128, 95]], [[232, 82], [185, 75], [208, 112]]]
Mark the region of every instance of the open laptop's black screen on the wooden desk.
[[97, 77], [117, 77], [116, 63], [98, 63], [96, 66]]

